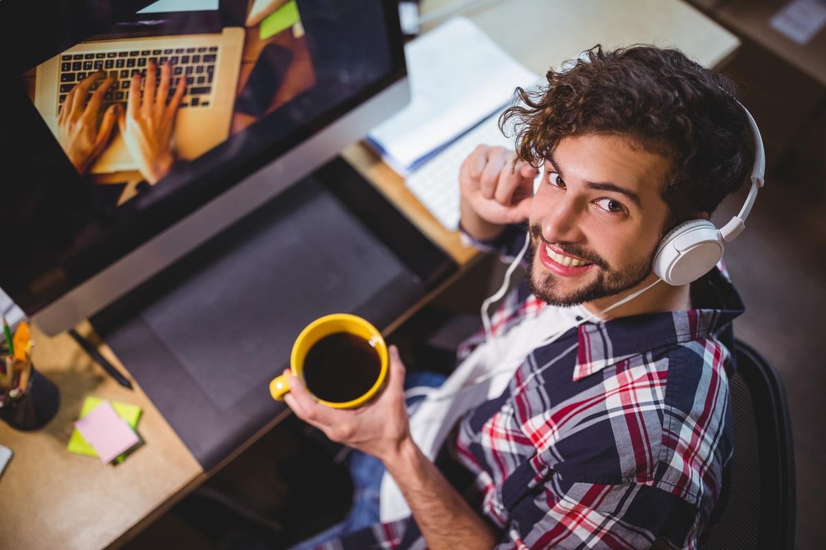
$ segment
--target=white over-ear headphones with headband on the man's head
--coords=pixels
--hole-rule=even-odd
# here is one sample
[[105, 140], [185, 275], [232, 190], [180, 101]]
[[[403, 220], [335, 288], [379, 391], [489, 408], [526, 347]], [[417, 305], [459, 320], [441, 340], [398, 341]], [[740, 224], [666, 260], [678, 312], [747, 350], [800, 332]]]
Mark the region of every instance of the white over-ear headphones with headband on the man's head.
[[754, 136], [754, 165], [752, 166], [752, 188], [740, 209], [722, 229], [718, 229], [707, 219], [690, 219], [679, 223], [662, 237], [654, 255], [653, 271], [660, 279], [675, 286], [691, 283], [708, 273], [723, 257], [724, 242], [733, 241], [745, 228], [748, 213], [752, 210], [757, 190], [763, 186], [766, 176], [766, 151], [760, 129], [748, 109], [738, 101], [748, 117], [748, 125]]

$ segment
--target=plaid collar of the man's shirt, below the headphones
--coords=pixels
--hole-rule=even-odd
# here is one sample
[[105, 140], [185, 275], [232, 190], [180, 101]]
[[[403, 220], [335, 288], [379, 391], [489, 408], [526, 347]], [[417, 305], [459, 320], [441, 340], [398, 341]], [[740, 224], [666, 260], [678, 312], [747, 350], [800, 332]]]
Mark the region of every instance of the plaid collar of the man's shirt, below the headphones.
[[577, 328], [573, 380], [663, 346], [715, 335], [744, 310], [737, 290], [716, 267], [691, 284], [691, 303], [698, 307], [583, 323]]

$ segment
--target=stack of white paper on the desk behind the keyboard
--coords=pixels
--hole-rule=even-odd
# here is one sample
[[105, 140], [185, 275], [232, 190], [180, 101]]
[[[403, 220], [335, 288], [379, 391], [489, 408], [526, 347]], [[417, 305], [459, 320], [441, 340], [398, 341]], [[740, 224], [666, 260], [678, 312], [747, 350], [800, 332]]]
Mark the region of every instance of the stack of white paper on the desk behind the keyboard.
[[429, 157], [501, 110], [536, 75], [464, 17], [405, 46], [411, 102], [368, 134], [368, 143], [406, 176]]

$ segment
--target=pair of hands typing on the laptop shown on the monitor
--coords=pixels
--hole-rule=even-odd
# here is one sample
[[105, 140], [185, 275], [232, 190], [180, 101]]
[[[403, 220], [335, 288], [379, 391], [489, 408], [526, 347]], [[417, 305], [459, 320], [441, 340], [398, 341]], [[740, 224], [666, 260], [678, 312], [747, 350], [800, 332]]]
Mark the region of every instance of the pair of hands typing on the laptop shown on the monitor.
[[[150, 61], [146, 76], [135, 73], [129, 87], [126, 106], [113, 103], [98, 113], [111, 96], [114, 79], [106, 73], [93, 73], [72, 88], [58, 115], [58, 140], [69, 161], [81, 174], [88, 171], [107, 147], [117, 123], [126, 148], [138, 164], [146, 181], [154, 184], [166, 176], [174, 164], [172, 134], [175, 114], [186, 92], [186, 81], [170, 90], [172, 67], [164, 63], [157, 78], [157, 65]], [[144, 84], [143, 95], [140, 88]], [[97, 88], [93, 87], [97, 82]], [[91, 92], [91, 96], [89, 93]]]

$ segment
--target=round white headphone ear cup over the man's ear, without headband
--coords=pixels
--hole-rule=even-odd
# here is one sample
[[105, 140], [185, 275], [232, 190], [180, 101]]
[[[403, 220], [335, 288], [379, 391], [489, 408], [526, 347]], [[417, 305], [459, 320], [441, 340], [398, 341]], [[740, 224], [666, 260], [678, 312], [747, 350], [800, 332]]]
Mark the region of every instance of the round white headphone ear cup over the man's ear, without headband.
[[716, 266], [724, 250], [723, 237], [714, 223], [690, 219], [662, 237], [654, 254], [653, 271], [668, 284], [688, 284]]

